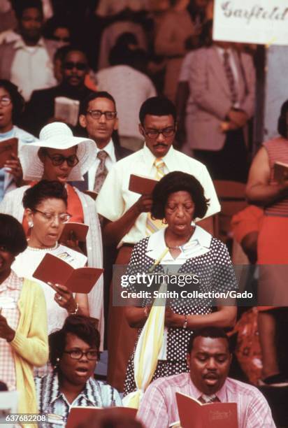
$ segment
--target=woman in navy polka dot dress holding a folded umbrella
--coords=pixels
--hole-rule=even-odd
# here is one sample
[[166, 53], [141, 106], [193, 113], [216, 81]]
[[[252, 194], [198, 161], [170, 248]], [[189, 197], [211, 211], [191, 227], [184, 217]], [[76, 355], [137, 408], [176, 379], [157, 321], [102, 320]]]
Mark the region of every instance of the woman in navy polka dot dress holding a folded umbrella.
[[[215, 300], [211, 294], [206, 294], [206, 299], [189, 298], [187, 292], [227, 292], [236, 290], [237, 283], [226, 245], [193, 223], [196, 218], [206, 215], [209, 204], [196, 178], [180, 171], [168, 173], [154, 187], [152, 199], [152, 218], [163, 219], [168, 226], [134, 247], [127, 273], [168, 271], [178, 273], [179, 279], [180, 274], [186, 275], [184, 287], [173, 285], [173, 289], [168, 288], [175, 290], [179, 298], [166, 301], [164, 345], [152, 378], [155, 380], [189, 371], [186, 354], [192, 330], [208, 326], [233, 327], [236, 320], [233, 301]], [[129, 291], [139, 291], [138, 286], [130, 285]], [[152, 287], [147, 289], [145, 285], [142, 290], [150, 290], [153, 295]], [[151, 304], [151, 300], [143, 299], [138, 306], [126, 308], [130, 327], [140, 328], [141, 332]], [[124, 395], [134, 390], [133, 353], [127, 368]]]

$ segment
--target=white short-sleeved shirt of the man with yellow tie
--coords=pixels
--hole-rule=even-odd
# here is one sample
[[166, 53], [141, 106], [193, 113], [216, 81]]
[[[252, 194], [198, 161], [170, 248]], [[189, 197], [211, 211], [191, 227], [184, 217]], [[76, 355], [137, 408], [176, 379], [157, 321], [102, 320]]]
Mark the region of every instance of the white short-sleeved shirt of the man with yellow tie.
[[[199, 180], [204, 188], [206, 198], [210, 199], [210, 206], [206, 217], [220, 211], [213, 181], [205, 165], [192, 157], [178, 152], [178, 150], [174, 150], [173, 147], [168, 150], [168, 153], [162, 159], [165, 163], [165, 174], [172, 171], [182, 171], [191, 174]], [[121, 159], [113, 165], [96, 199], [98, 213], [112, 222], [119, 220], [140, 197], [138, 193], [129, 190], [130, 175], [136, 174], [155, 178], [157, 169], [154, 166], [154, 161], [154, 155], [152, 155], [152, 152], [145, 145], [143, 149]], [[147, 213], [141, 213], [137, 217], [134, 226], [122, 238], [119, 246], [122, 243], [134, 244], [145, 238], [146, 220]]]

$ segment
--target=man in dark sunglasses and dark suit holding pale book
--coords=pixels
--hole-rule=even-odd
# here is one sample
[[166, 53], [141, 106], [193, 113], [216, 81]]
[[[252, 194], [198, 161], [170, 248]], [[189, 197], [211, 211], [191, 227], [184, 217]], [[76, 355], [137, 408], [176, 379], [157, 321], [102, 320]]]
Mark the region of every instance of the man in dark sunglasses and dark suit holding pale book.
[[55, 117], [55, 98], [82, 101], [92, 94], [93, 91], [85, 86], [88, 69], [85, 52], [75, 46], [67, 47], [62, 63], [62, 83], [48, 90], [33, 92], [24, 114], [24, 127], [38, 135], [48, 122], [66, 122], [64, 117]]

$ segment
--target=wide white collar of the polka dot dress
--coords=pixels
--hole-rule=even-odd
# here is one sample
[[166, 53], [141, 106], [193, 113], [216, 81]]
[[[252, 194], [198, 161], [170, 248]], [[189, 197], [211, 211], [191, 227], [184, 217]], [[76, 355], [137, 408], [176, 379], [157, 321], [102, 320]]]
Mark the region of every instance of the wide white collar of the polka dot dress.
[[[154, 260], [158, 260], [159, 257], [165, 259], [171, 259], [170, 253], [166, 252], [166, 243], [165, 243], [165, 229], [160, 229], [159, 231], [152, 234], [148, 240], [146, 255], [151, 257]], [[181, 245], [180, 250], [182, 252], [182, 257], [189, 259], [192, 257], [197, 257], [199, 255], [206, 254], [210, 251], [212, 235], [200, 226], [195, 226], [194, 234], [191, 236], [189, 241], [185, 245]], [[166, 255], [168, 257], [166, 257]]]

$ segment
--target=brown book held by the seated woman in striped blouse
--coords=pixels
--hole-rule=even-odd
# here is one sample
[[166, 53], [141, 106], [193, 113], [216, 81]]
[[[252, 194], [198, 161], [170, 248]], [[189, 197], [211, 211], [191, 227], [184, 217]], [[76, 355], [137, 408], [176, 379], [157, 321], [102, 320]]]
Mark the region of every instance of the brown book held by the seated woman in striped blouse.
[[[97, 422], [103, 416], [114, 416], [115, 418], [126, 417], [136, 419], [136, 408], [129, 407], [72, 407], [69, 413], [66, 428], [77, 428], [87, 420]], [[94, 424], [93, 424], [94, 425]]]

